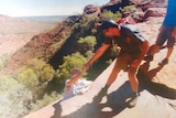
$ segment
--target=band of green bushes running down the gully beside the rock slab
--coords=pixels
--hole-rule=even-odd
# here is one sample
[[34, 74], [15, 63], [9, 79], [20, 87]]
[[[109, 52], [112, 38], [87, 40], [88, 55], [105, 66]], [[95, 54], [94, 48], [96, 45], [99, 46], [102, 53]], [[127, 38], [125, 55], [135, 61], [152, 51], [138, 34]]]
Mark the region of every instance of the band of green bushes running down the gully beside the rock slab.
[[[64, 85], [74, 67], [82, 68], [87, 60], [92, 56], [95, 47], [98, 44], [96, 23], [109, 18], [117, 21], [121, 18], [121, 13], [105, 11], [101, 19], [81, 18], [75, 24], [72, 37], [77, 40], [78, 50], [64, 56], [63, 64], [58, 65], [58, 69], [54, 69], [47, 62], [33, 58], [20, 68], [15, 78], [0, 76], [0, 117], [19, 118], [29, 111], [37, 110], [61, 98], [62, 94], [54, 89], [50, 89], [51, 93], [48, 94], [47, 87], [52, 82], [55, 83], [55, 81], [57, 82], [57, 85], [54, 86], [55, 88]], [[105, 60], [101, 61], [105, 62]], [[99, 74], [107, 66], [106, 63], [103, 64], [99, 63], [98, 67], [96, 67], [97, 69], [90, 68], [89, 72], [95, 75]], [[0, 62], [1, 67], [3, 67], [3, 63]], [[91, 77], [94, 78], [94, 76]]]

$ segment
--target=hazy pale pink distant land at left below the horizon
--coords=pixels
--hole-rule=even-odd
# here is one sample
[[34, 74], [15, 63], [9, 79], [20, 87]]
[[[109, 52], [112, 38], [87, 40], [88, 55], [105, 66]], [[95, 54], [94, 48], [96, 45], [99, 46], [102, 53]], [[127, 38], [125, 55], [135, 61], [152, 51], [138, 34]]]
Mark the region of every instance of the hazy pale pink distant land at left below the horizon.
[[0, 56], [14, 54], [31, 41], [33, 35], [47, 32], [57, 25], [56, 23], [34, 22], [7, 15], [0, 15]]

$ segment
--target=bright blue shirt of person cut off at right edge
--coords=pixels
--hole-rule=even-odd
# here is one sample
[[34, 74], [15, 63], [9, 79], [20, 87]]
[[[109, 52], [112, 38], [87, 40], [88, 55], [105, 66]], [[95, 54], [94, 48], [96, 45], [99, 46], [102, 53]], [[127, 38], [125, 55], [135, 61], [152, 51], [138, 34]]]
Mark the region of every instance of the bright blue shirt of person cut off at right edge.
[[168, 0], [164, 26], [176, 26], [176, 0]]

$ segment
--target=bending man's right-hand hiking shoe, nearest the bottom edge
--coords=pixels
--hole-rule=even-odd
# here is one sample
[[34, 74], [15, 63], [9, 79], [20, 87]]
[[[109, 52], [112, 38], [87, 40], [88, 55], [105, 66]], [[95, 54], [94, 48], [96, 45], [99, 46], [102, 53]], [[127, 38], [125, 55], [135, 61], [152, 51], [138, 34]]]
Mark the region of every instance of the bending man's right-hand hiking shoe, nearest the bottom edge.
[[133, 93], [133, 95], [131, 96], [130, 100], [128, 101], [128, 107], [129, 108], [132, 108], [132, 107], [134, 107], [136, 105], [138, 97], [139, 97], [139, 94], [138, 93]]

